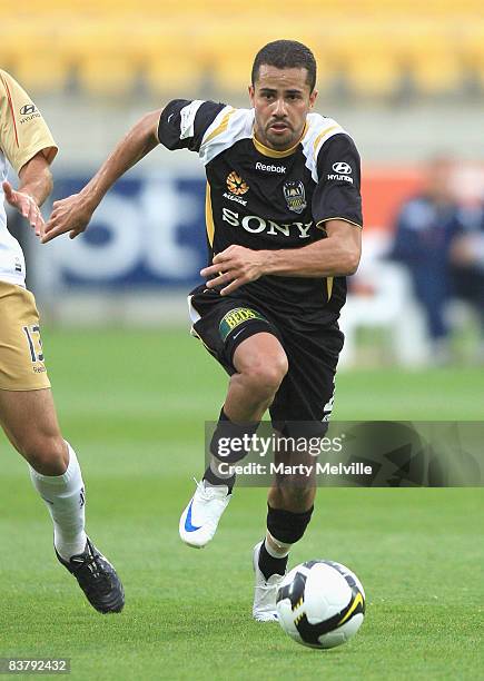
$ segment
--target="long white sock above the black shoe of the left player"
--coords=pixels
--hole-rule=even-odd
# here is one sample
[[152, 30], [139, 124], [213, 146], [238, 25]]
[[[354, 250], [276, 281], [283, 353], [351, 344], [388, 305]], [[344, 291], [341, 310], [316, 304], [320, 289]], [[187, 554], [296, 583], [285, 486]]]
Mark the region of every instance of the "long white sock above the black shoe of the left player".
[[69, 465], [62, 475], [42, 475], [30, 467], [30, 478], [46, 502], [53, 521], [53, 543], [63, 560], [86, 547], [85, 485], [76, 452], [69, 450]]

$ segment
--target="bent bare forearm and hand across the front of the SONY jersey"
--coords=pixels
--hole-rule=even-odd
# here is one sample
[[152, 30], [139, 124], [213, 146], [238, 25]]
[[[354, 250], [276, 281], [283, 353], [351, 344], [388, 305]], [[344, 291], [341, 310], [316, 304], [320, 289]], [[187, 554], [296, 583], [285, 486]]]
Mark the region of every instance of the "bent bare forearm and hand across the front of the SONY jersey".
[[244, 246], [229, 246], [214, 257], [213, 265], [201, 270], [201, 276], [215, 278], [207, 287], [221, 286], [221, 295], [228, 295], [263, 275], [290, 277], [336, 277], [356, 272], [362, 254], [362, 230], [344, 220], [325, 223], [326, 239], [303, 248], [280, 250], [251, 250]]

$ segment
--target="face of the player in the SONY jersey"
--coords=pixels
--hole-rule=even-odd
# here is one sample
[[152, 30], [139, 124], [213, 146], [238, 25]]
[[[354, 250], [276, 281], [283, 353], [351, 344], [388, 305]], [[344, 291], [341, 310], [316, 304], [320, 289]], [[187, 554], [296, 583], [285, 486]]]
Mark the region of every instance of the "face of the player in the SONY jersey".
[[269, 149], [284, 151], [300, 139], [317, 91], [309, 91], [305, 68], [261, 65], [249, 97], [256, 112], [256, 138]]

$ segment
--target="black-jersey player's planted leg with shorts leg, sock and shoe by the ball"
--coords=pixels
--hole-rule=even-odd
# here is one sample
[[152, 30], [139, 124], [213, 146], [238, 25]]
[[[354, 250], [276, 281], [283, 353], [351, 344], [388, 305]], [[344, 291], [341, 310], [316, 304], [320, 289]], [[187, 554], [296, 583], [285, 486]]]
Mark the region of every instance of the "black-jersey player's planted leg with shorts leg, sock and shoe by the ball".
[[[314, 336], [292, 333], [285, 337], [290, 369], [271, 405], [273, 424], [285, 437], [323, 437], [333, 409], [334, 376], [343, 345], [337, 328]], [[279, 461], [314, 463], [308, 454], [283, 450]], [[305, 457], [303, 460], [303, 457]], [[307, 461], [306, 461], [307, 460]], [[312, 519], [315, 480], [300, 474], [278, 475], [268, 492], [266, 535], [254, 550], [256, 589], [253, 614], [260, 621], [276, 619], [275, 598], [288, 562]]]

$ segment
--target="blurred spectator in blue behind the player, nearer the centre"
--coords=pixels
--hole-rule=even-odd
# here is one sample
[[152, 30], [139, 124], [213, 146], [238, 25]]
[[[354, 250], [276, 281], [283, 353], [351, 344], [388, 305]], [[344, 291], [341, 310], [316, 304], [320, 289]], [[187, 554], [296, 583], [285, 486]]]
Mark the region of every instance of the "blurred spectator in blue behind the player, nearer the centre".
[[391, 258], [408, 268], [414, 293], [421, 303], [435, 364], [450, 361], [445, 306], [451, 295], [450, 253], [458, 231], [457, 204], [452, 190], [454, 162], [433, 158], [425, 168], [425, 186], [408, 199], [396, 221]]

